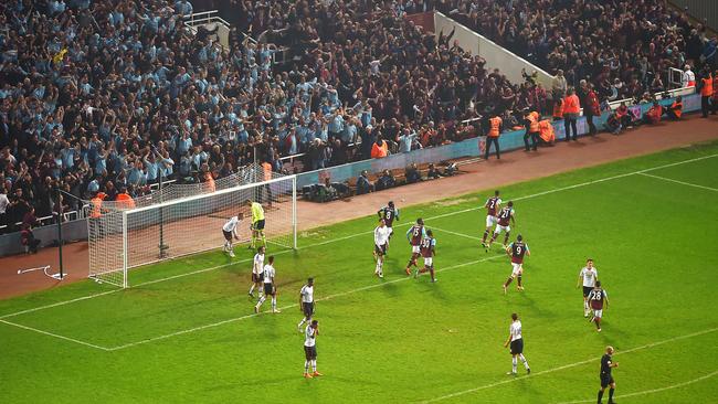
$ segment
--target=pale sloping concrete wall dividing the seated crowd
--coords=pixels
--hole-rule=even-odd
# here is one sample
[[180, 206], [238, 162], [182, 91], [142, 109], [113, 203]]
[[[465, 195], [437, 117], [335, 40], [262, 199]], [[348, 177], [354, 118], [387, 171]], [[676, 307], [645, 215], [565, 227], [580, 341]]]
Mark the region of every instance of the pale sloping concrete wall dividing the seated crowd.
[[462, 49], [469, 51], [473, 55], [484, 57], [486, 60], [487, 68], [499, 68], [513, 83], [524, 83], [521, 68], [526, 68], [526, 72], [529, 74], [537, 71], [538, 82], [541, 83], [545, 88], [551, 87], [551, 81], [553, 77], [540, 67], [505, 50], [487, 38], [477, 34], [443, 13], [439, 11], [434, 12], [434, 33], [436, 34], [436, 38], [439, 38], [439, 34], [442, 31], [444, 32], [444, 35], [447, 35], [454, 26], [456, 26], [456, 31], [454, 32], [454, 38], [452, 38], [452, 43], [456, 40]]

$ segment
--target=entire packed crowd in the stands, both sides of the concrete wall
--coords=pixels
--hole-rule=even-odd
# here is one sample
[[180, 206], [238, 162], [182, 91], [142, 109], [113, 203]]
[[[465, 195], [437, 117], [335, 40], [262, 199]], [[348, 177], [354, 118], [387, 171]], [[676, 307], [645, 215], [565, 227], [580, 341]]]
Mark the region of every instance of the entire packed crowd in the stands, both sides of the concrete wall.
[[[160, 177], [207, 181], [252, 161], [279, 171], [299, 152], [318, 169], [476, 136], [479, 123], [462, 120], [479, 115], [514, 126], [525, 109], [550, 109], [555, 89], [529, 75], [510, 83], [406, 13], [435, 7], [610, 97], [612, 81], [625, 83], [617, 96], [645, 89], [662, 64], [699, 49], [657, 1], [529, 3], [232, 0], [222, 49], [186, 26], [188, 0], [4, 2], [0, 225], [57, 211], [54, 189], [64, 211], [78, 210], [97, 192], [146, 193]], [[288, 46], [288, 63], [245, 33]]]

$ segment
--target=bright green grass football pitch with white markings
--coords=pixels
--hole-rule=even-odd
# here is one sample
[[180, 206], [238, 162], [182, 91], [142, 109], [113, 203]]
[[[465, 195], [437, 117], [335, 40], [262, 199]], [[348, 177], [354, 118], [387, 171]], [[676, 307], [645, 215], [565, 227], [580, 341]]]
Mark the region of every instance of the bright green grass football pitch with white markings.
[[[374, 211], [302, 232], [297, 251], [270, 248], [276, 315], [254, 315], [245, 246], [133, 270], [126, 290], [88, 280], [0, 301], [0, 402], [592, 403], [608, 344], [619, 403], [717, 402], [716, 172], [711, 142], [500, 187], [511, 240], [531, 251], [526, 290], [506, 296], [503, 235], [479, 247], [494, 191], [482, 190], [397, 201], [383, 280]], [[436, 284], [403, 272], [416, 217], [437, 240]], [[588, 257], [610, 298], [600, 333], [577, 288]], [[308, 276], [325, 374], [312, 380], [297, 332]], [[520, 363], [506, 375], [513, 312], [530, 375]]]

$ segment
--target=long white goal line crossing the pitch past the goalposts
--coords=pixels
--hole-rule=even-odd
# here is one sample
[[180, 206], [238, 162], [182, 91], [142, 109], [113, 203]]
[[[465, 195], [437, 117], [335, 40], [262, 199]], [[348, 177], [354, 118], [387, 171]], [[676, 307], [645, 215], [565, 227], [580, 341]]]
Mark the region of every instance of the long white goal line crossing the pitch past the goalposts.
[[[547, 194], [550, 194], [550, 193], [556, 193], [556, 192], [567, 191], [567, 190], [572, 190], [572, 189], [576, 189], [576, 188], [587, 187], [587, 185], [591, 185], [591, 184], [599, 183], [599, 182], [611, 181], [611, 180], [616, 180], [616, 179], [624, 178], [624, 177], [640, 174], [640, 173], [647, 172], [647, 171], [654, 171], [654, 170], [659, 170], [659, 169], [667, 168], [667, 167], [674, 167], [674, 166], [686, 164], [686, 163], [690, 163], [690, 162], [695, 162], [695, 161], [706, 160], [706, 159], [710, 159], [710, 158], [714, 158], [714, 157], [718, 157], [718, 153], [709, 155], [709, 156], [703, 156], [703, 157], [698, 157], [698, 158], [695, 158], [695, 159], [677, 161], [677, 162], [673, 162], [673, 163], [668, 163], [668, 164], [656, 166], [656, 167], [648, 168], [648, 169], [636, 170], [636, 171], [633, 171], [633, 172], [627, 172], [627, 173], [623, 173], [623, 174], [606, 177], [606, 178], [602, 178], [602, 179], [598, 179], [598, 180], [581, 182], [581, 183], [573, 184], [573, 185], [556, 188], [556, 189], [552, 189], [552, 190], [538, 192], [538, 193], [534, 193], [534, 194], [530, 194], [530, 195], [515, 198], [514, 201], [521, 201], [521, 200], [532, 199], [532, 198], [537, 198], [537, 196], [547, 195]], [[468, 208], [468, 209], [463, 209], [463, 210], [460, 210], [460, 211], [443, 213], [443, 214], [432, 216], [432, 217], [426, 217], [425, 220], [429, 221], [429, 220], [448, 217], [448, 216], [453, 216], [453, 215], [456, 215], [456, 214], [477, 211], [477, 210], [481, 210], [481, 209], [483, 209], [483, 206]], [[405, 226], [405, 225], [409, 225], [409, 224], [411, 224], [411, 223], [402, 223], [402, 224], [399, 224], [397, 226], [398, 227], [399, 226]], [[350, 235], [347, 235], [347, 236], [344, 236], [344, 237], [331, 238], [331, 240], [327, 240], [327, 241], [321, 242], [321, 243], [315, 243], [315, 244], [310, 244], [310, 245], [307, 245], [307, 246], [304, 246], [304, 247], [298, 247], [297, 249], [317, 247], [317, 246], [320, 246], [320, 245], [325, 245], [325, 244], [329, 244], [329, 243], [336, 243], [336, 242], [340, 242], [340, 241], [344, 241], [344, 240], [348, 240], [348, 238], [352, 238], [352, 237], [356, 237], [356, 236], [366, 235], [366, 234], [370, 234], [370, 233], [371, 232], [362, 232], [362, 233], [357, 233], [357, 234], [350, 234]], [[281, 252], [276, 253], [275, 255], [285, 254], [285, 253], [288, 253], [288, 252], [289, 252], [289, 249], [281, 251]], [[161, 281], [165, 281], [165, 280], [177, 279], [177, 278], [181, 278], [181, 277], [184, 277], [184, 276], [201, 274], [201, 273], [205, 273], [205, 272], [209, 272], [209, 270], [220, 269], [220, 268], [224, 268], [224, 267], [228, 267], [228, 266], [231, 266], [231, 265], [235, 265], [235, 264], [240, 264], [240, 263], [244, 263], [244, 262], [249, 262], [249, 261], [251, 261], [251, 259], [236, 261], [236, 262], [232, 262], [232, 263], [229, 263], [229, 264], [222, 264], [222, 265], [213, 266], [213, 267], [210, 267], [210, 268], [193, 270], [193, 272], [190, 272], [190, 273], [187, 273], [187, 274], [180, 274], [180, 275], [175, 275], [175, 276], [170, 276], [170, 277], [167, 277], [167, 278], [155, 279], [155, 280], [142, 283], [142, 284], [137, 284], [137, 285], [135, 285], [135, 287], [144, 286], [144, 285], [158, 284], [158, 283], [161, 283]], [[10, 318], [10, 317], [19, 316], [19, 315], [24, 315], [24, 313], [33, 312], [33, 311], [38, 311], [38, 310], [44, 310], [44, 309], [49, 309], [49, 308], [52, 308], [52, 307], [64, 306], [64, 305], [68, 305], [68, 304], [75, 302], [75, 301], [92, 299], [92, 298], [95, 298], [95, 297], [110, 295], [110, 294], [115, 294], [115, 293], [123, 291], [123, 290], [124, 289], [114, 289], [114, 290], [108, 290], [108, 291], [105, 291], [105, 293], [102, 293], [102, 294], [94, 294], [94, 295], [89, 295], [89, 296], [80, 297], [80, 298], [76, 298], [76, 299], [55, 302], [55, 304], [52, 304], [52, 305], [40, 306], [40, 307], [32, 308], [32, 309], [27, 309], [27, 310], [22, 310], [22, 311], [12, 312], [12, 313], [9, 313], [9, 315], [0, 316], [0, 319]]]

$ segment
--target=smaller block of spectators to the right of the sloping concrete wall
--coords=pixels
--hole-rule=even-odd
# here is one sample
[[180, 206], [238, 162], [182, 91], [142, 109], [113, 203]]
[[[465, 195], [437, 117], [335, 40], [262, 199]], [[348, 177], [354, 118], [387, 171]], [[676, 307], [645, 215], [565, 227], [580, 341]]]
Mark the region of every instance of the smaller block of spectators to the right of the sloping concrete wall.
[[[644, 97], [667, 89], [668, 67], [718, 65], [705, 26], [663, 0], [436, 0], [435, 8], [556, 75], [568, 86], [592, 83], [601, 99]], [[566, 88], [557, 86], [555, 96]], [[557, 94], [558, 93], [558, 94]]]

